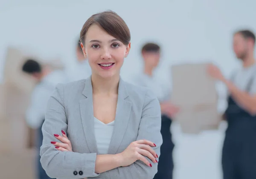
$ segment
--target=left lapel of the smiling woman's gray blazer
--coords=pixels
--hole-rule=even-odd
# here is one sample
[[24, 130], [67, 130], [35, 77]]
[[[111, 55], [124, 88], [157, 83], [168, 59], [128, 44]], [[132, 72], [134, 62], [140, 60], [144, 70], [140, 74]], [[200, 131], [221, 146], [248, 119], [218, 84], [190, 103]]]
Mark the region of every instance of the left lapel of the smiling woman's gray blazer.
[[94, 119], [93, 119], [93, 88], [91, 77], [87, 78], [82, 93], [86, 99], [79, 102], [82, 125], [84, 128], [84, 135], [91, 153], [97, 153], [96, 138], [94, 133]]

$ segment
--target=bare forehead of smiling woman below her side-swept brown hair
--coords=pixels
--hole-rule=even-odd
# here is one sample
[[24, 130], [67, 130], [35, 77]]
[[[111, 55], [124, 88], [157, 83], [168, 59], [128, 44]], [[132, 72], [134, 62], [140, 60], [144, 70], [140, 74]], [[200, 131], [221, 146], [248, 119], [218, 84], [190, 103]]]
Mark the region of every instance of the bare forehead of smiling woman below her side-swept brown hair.
[[91, 25], [85, 35], [85, 40], [109, 40], [113, 39], [114, 37], [108, 34], [102, 27], [98, 26], [97, 24]]

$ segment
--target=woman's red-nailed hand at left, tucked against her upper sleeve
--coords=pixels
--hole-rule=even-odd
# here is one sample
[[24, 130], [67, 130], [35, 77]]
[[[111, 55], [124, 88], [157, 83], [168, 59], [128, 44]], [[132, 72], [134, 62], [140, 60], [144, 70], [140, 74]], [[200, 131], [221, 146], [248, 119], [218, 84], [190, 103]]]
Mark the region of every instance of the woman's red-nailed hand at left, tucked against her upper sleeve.
[[55, 142], [55, 141], [52, 141], [51, 144], [52, 145], [55, 145], [55, 148], [58, 150], [58, 151], [70, 151], [70, 152], [73, 152], [72, 151], [72, 145], [71, 145], [71, 142], [70, 140], [67, 138], [67, 135], [65, 134], [64, 131], [61, 131], [62, 133], [62, 136], [58, 135], [58, 134], [54, 134], [55, 138], [60, 140], [61, 142]]

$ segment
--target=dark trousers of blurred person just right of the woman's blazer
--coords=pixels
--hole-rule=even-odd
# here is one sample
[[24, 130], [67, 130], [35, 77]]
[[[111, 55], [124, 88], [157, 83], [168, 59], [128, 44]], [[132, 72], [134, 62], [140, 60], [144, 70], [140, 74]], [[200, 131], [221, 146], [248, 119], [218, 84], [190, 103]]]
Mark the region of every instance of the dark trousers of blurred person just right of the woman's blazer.
[[157, 174], [154, 179], [172, 179], [173, 160], [172, 151], [174, 144], [172, 143], [172, 134], [170, 126], [172, 120], [167, 116], [162, 116], [161, 134], [163, 137], [163, 144], [160, 148], [160, 157], [158, 161]]

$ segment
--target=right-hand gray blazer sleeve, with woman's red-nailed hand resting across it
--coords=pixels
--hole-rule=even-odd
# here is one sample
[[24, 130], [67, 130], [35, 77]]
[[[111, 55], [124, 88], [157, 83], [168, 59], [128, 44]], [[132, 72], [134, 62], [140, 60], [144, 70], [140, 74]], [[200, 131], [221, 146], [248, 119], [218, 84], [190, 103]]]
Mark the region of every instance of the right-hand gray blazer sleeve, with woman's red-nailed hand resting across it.
[[[147, 139], [154, 142], [157, 146], [154, 151], [160, 156], [160, 146], [163, 143], [163, 138], [160, 133], [161, 130], [161, 109], [157, 97], [151, 92], [147, 91], [145, 95], [145, 102], [143, 105], [142, 116], [140, 120], [139, 133], [137, 140]], [[148, 167], [145, 163], [137, 160], [127, 167], [119, 167], [110, 170], [112, 179], [153, 179], [157, 173], [157, 163], [153, 163], [148, 157], [145, 157], [152, 165]], [[116, 171], [118, 176], [116, 175]]]

